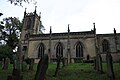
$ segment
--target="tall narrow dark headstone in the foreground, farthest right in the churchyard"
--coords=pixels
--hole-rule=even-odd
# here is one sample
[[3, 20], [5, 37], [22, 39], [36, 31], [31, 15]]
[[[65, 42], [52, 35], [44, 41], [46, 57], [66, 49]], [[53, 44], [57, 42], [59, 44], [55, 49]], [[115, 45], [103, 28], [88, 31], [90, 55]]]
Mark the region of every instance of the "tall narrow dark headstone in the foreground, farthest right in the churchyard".
[[110, 53], [106, 54], [106, 62], [107, 62], [107, 74], [110, 80], [115, 80], [115, 75], [113, 71], [113, 63], [112, 56]]

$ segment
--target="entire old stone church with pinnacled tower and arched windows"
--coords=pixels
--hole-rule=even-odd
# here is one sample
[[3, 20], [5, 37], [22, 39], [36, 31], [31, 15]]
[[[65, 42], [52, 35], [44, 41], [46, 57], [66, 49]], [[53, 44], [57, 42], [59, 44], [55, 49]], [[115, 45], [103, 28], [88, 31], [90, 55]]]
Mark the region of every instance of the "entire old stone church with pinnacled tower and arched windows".
[[[77, 59], [92, 59], [96, 54], [116, 54], [114, 59], [120, 57], [120, 33], [114, 28], [110, 34], [96, 34], [95, 23], [93, 29], [82, 32], [44, 34], [40, 31], [42, 26], [41, 16], [24, 12], [23, 29], [20, 37], [21, 57], [39, 60], [44, 54], [49, 55], [49, 60], [54, 61], [56, 55], [61, 55], [67, 62], [75, 62]], [[119, 56], [118, 56], [119, 55]], [[113, 55], [114, 56], [114, 55]]]

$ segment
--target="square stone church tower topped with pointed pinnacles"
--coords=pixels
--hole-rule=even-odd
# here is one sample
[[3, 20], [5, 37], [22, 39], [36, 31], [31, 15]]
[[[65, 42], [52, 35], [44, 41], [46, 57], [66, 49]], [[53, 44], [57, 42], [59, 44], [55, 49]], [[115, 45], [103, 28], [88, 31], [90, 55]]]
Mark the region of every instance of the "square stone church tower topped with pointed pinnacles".
[[42, 32], [40, 31], [42, 25], [40, 18], [41, 16], [38, 16], [36, 13], [36, 7], [33, 13], [26, 13], [25, 9], [23, 28], [20, 37], [21, 57], [27, 56], [29, 36], [33, 34], [42, 34]]

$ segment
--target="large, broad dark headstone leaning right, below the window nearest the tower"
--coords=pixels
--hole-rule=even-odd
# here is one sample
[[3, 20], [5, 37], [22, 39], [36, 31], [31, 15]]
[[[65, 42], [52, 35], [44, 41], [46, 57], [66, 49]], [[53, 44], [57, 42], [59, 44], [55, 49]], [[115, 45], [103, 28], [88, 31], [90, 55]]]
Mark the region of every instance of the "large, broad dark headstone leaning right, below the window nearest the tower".
[[45, 54], [37, 65], [37, 72], [34, 80], [44, 80], [48, 68], [48, 55]]

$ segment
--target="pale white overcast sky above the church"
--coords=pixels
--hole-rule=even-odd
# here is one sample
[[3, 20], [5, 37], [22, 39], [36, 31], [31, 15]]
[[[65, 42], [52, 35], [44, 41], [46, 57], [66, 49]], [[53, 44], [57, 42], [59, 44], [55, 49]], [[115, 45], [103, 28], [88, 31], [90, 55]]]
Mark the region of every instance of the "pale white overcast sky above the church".
[[97, 33], [113, 33], [116, 28], [120, 33], [120, 0], [38, 0], [33, 3], [23, 3], [23, 7], [14, 6], [7, 0], [0, 0], [0, 12], [5, 17], [19, 17], [23, 19], [25, 7], [27, 12], [33, 12], [37, 6], [37, 13], [41, 12], [41, 21], [45, 33], [49, 33], [52, 26], [53, 33], [70, 31], [88, 31], [96, 24]]

